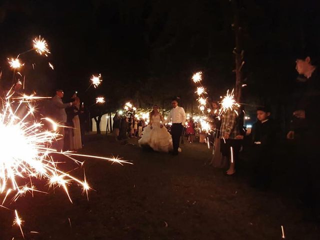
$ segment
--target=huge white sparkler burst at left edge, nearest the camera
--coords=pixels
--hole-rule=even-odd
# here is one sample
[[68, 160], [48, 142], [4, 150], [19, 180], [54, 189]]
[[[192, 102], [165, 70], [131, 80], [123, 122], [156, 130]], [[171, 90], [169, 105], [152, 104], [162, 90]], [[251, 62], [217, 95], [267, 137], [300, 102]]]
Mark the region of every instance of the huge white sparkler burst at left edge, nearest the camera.
[[[124, 163], [133, 164], [117, 157], [77, 154], [70, 151], [57, 152], [51, 145], [61, 137], [56, 130], [58, 127], [63, 126], [58, 125], [50, 118], [44, 117], [41, 120], [52, 124], [53, 130], [44, 129], [42, 122], [32, 121], [34, 107], [32, 107], [30, 101], [36, 97], [24, 95], [22, 99], [14, 102], [13, 97], [10, 98], [12, 94], [12, 92], [8, 92], [8, 96], [2, 99], [2, 107], [0, 107], [1, 207], [7, 208], [3, 205], [7, 199], [16, 201], [26, 193], [33, 195], [33, 192], [44, 192], [36, 189], [32, 179], [44, 180], [49, 187], [61, 187], [71, 202], [68, 192], [68, 186], [71, 183], [80, 185], [82, 192], [87, 194], [91, 188], [86, 181], [85, 175], [84, 180], [80, 180], [70, 173], [60, 170], [58, 165], [61, 162], [54, 160], [55, 154], [64, 155], [80, 165], [83, 165], [83, 162], [73, 157], [97, 158], [121, 165]], [[27, 109], [26, 113], [24, 113], [25, 107]], [[20, 108], [23, 108], [22, 111], [19, 110]], [[26, 181], [28, 182], [26, 183]], [[15, 210], [14, 224], [19, 226], [23, 236], [22, 222]]]

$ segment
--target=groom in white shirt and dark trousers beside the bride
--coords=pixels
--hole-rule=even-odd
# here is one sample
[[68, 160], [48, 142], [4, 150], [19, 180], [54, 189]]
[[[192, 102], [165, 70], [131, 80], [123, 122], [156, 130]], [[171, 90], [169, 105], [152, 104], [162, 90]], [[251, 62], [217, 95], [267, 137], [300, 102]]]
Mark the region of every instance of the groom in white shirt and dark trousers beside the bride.
[[167, 117], [167, 119], [163, 122], [172, 121], [171, 127], [171, 136], [172, 136], [172, 143], [173, 143], [173, 154], [178, 154], [180, 136], [182, 134], [183, 125], [185, 124], [185, 112], [183, 107], [178, 106], [178, 102], [176, 99], [171, 101], [172, 109]]

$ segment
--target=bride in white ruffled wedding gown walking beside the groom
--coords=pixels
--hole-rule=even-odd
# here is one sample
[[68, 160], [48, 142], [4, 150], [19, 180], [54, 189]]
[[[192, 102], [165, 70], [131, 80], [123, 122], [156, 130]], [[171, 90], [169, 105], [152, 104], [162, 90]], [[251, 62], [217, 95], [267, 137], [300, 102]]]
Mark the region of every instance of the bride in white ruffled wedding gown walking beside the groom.
[[139, 139], [141, 147], [150, 146], [154, 151], [168, 152], [173, 149], [172, 137], [167, 129], [161, 124], [163, 117], [159, 107], [154, 105], [149, 114], [149, 124], [144, 127], [142, 137]]

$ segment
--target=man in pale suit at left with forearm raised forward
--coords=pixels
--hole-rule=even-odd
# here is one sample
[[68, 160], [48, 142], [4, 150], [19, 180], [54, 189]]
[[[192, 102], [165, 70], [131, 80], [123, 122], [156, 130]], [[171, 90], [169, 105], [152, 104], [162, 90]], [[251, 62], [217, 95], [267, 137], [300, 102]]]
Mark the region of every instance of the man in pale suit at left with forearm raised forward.
[[65, 108], [75, 104], [75, 102], [63, 103], [63, 95], [63, 90], [57, 89], [55, 91], [55, 95], [51, 98], [51, 117], [59, 124], [59, 127], [57, 129], [59, 137], [54, 144], [54, 149], [57, 151], [63, 150], [64, 126], [66, 123]]

